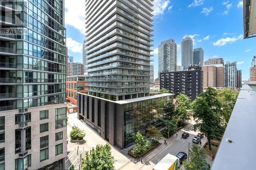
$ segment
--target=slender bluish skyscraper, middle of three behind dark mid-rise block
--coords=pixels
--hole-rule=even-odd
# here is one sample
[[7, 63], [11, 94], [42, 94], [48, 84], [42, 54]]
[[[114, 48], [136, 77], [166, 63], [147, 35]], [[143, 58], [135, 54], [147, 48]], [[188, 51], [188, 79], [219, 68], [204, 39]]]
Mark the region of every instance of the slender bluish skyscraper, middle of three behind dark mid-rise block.
[[181, 42], [181, 65], [183, 69], [193, 65], [193, 40], [190, 37], [183, 38]]

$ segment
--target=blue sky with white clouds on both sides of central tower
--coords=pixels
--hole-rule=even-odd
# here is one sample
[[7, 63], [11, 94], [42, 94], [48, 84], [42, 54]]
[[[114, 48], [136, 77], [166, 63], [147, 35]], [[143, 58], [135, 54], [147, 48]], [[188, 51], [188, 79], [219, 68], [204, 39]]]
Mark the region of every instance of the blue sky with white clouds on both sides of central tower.
[[[82, 62], [84, 40], [84, 1], [66, 1], [66, 29], [69, 55]], [[256, 38], [243, 39], [243, 8], [241, 0], [155, 0], [154, 66], [158, 71], [157, 47], [161, 41], [173, 38], [176, 43], [184, 36], [194, 39], [194, 48], [204, 49], [204, 60], [222, 57], [237, 61], [242, 79], [249, 79], [252, 56], [256, 54]], [[180, 65], [180, 48], [178, 50]]]

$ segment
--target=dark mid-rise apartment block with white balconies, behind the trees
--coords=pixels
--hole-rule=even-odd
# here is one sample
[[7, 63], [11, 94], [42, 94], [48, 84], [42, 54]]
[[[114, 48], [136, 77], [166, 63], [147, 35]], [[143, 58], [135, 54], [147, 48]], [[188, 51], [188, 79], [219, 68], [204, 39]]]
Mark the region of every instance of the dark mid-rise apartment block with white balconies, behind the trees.
[[170, 93], [186, 94], [191, 100], [203, 92], [203, 71], [200, 66], [191, 66], [188, 70], [161, 72], [160, 89], [166, 88]]

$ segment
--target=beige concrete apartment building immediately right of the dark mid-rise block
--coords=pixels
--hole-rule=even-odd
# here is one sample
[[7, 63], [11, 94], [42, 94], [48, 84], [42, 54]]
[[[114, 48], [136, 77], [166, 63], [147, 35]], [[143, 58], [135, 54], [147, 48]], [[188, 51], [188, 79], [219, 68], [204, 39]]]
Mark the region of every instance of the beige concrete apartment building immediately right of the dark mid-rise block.
[[203, 66], [203, 88], [224, 88], [223, 64]]

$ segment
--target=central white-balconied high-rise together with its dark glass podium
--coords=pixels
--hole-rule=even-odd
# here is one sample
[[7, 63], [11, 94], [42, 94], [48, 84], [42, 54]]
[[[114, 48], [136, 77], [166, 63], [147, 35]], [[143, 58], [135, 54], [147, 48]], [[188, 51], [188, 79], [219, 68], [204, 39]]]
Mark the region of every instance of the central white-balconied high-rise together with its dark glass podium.
[[153, 6], [153, 0], [86, 0], [89, 93], [78, 93], [78, 117], [120, 148], [159, 124], [160, 101], [172, 96], [149, 95]]

